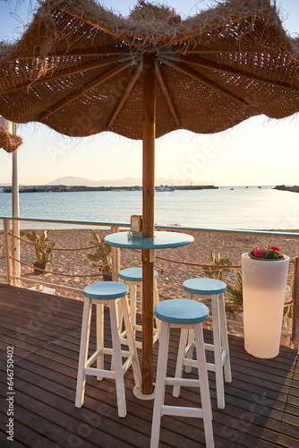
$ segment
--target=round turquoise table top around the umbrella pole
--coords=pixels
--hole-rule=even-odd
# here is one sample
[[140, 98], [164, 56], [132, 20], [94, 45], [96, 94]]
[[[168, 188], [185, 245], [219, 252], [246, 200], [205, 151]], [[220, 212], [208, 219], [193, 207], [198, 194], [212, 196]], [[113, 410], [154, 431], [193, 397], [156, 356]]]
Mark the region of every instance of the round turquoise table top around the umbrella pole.
[[129, 232], [111, 233], [105, 237], [109, 246], [125, 249], [167, 249], [190, 245], [194, 238], [181, 232], [155, 232], [154, 238], [130, 238]]

